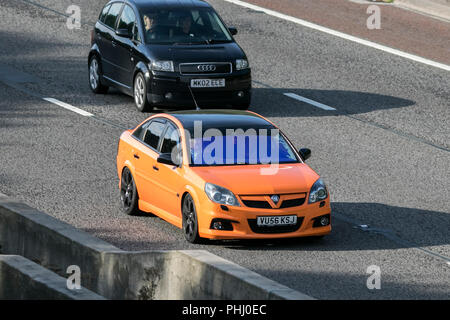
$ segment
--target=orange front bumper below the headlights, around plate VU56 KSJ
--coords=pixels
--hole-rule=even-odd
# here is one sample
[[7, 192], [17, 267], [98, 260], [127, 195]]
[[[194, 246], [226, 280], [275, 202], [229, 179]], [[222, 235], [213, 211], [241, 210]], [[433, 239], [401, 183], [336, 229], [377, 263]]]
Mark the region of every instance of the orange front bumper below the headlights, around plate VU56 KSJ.
[[[320, 203], [304, 204], [288, 209], [255, 209], [227, 206], [228, 211], [223, 210], [221, 205], [211, 203], [206, 208], [204, 206], [198, 214], [200, 220], [199, 235], [208, 239], [276, 239], [327, 235], [331, 232], [331, 208], [329, 198], [324, 201], [325, 205], [322, 207], [320, 207]], [[296, 215], [299, 225], [284, 229], [279, 227], [255, 228], [258, 216], [285, 215]], [[324, 227], [314, 226], [315, 218], [324, 215], [329, 215], [330, 223]], [[213, 219], [233, 221], [233, 230], [211, 229]], [[279, 229], [270, 230], [270, 228]]]

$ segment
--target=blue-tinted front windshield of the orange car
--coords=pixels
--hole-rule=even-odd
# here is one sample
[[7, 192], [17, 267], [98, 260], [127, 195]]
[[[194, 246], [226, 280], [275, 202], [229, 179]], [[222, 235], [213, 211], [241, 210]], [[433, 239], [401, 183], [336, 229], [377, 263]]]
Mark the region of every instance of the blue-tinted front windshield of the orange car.
[[192, 166], [297, 163], [282, 135], [215, 135], [189, 140]]

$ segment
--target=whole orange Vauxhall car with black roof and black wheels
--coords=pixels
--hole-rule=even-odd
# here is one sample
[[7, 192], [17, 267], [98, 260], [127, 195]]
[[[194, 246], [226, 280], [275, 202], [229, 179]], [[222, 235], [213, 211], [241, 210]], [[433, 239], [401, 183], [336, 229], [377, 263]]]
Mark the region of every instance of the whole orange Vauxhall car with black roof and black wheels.
[[151, 212], [192, 243], [324, 236], [330, 197], [310, 154], [253, 112], [156, 114], [120, 137], [122, 209]]

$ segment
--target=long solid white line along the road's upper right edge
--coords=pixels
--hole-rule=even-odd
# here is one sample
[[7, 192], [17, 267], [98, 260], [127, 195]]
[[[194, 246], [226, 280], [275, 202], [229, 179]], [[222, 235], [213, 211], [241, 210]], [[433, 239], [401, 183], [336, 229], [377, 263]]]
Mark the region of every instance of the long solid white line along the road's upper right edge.
[[336, 31], [336, 30], [333, 30], [333, 29], [322, 27], [322, 26], [320, 26], [318, 24], [311, 23], [311, 22], [308, 22], [308, 21], [305, 21], [305, 20], [302, 20], [302, 19], [299, 19], [299, 18], [292, 17], [292, 16], [288, 16], [288, 15], [282, 14], [282, 13], [277, 12], [277, 11], [266, 9], [266, 8], [263, 8], [263, 7], [260, 7], [260, 6], [256, 6], [254, 4], [250, 4], [250, 3], [247, 3], [247, 2], [244, 2], [244, 1], [240, 1], [240, 0], [224, 0], [224, 1], [236, 4], [236, 5], [239, 5], [239, 6], [242, 6], [242, 7], [246, 7], [246, 8], [249, 8], [249, 9], [253, 9], [253, 10], [256, 10], [256, 11], [262, 11], [262, 12], [268, 14], [268, 15], [271, 15], [271, 16], [274, 16], [274, 17], [277, 17], [277, 18], [280, 18], [280, 19], [284, 19], [284, 20], [287, 20], [287, 21], [290, 21], [290, 22], [294, 22], [294, 23], [297, 23], [297, 24], [302, 25], [302, 26], [307, 27], [307, 28], [311, 28], [311, 29], [315, 29], [315, 30], [318, 30], [318, 31], [322, 31], [322, 32], [331, 34], [331, 35], [339, 37], [339, 38], [343, 38], [343, 39], [346, 39], [346, 40], [357, 42], [359, 44], [362, 44], [362, 45], [365, 45], [365, 46], [368, 46], [368, 47], [371, 47], [371, 48], [375, 48], [375, 49], [378, 49], [378, 50], [381, 50], [381, 51], [385, 51], [385, 52], [394, 54], [396, 56], [400, 56], [400, 57], [403, 57], [403, 58], [406, 58], [406, 59], [409, 59], [409, 60], [420, 62], [420, 63], [426, 64], [426, 65], [429, 65], [429, 66], [433, 66], [433, 67], [436, 67], [436, 68], [439, 68], [439, 69], [442, 69], [442, 70], [450, 71], [450, 66], [449, 65], [446, 65], [446, 64], [443, 64], [443, 63], [439, 63], [439, 62], [436, 62], [436, 61], [433, 61], [433, 60], [425, 59], [425, 58], [416, 56], [414, 54], [410, 54], [410, 53], [403, 52], [403, 51], [400, 51], [400, 50], [397, 50], [397, 49], [393, 49], [393, 48], [390, 48], [390, 47], [387, 47], [387, 46], [384, 46], [384, 45], [381, 45], [381, 44], [378, 44], [378, 43], [375, 43], [375, 42], [372, 42], [372, 41], [364, 40], [364, 39], [361, 39], [361, 38], [358, 38], [358, 37], [355, 37], [355, 36], [351, 36], [349, 34], [346, 34], [346, 33], [343, 33], [343, 32], [339, 32], [339, 31]]

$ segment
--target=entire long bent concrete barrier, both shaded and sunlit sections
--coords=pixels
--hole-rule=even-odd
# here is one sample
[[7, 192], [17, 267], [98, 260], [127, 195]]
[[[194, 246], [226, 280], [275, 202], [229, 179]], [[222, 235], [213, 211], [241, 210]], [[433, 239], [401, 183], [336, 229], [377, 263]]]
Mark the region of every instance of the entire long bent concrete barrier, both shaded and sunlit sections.
[[108, 299], [312, 299], [203, 250], [120, 250], [0, 194], [0, 253], [24, 256]]

